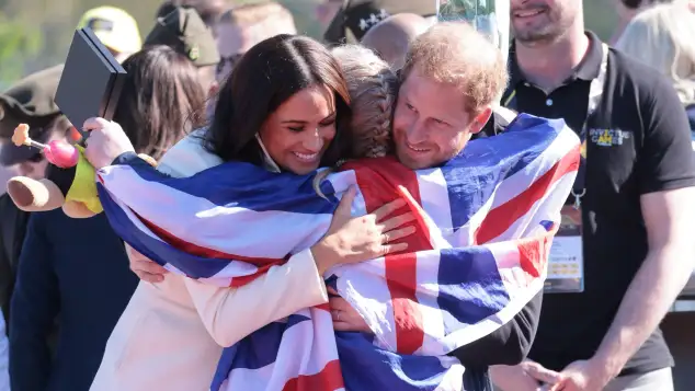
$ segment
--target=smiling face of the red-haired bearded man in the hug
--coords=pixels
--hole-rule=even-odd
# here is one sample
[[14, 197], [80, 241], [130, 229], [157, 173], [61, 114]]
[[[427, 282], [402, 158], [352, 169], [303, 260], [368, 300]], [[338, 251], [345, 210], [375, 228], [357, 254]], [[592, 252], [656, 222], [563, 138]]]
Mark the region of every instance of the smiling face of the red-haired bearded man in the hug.
[[482, 129], [490, 110], [472, 117], [467, 99], [453, 85], [412, 69], [398, 93], [394, 112], [396, 156], [412, 170], [440, 165], [458, 154]]

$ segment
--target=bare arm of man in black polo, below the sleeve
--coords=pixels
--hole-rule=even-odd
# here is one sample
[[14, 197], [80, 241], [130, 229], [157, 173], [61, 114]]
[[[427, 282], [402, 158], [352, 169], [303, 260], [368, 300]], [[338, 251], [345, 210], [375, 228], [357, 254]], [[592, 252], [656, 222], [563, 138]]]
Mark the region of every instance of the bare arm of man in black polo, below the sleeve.
[[616, 376], [657, 329], [695, 266], [695, 187], [646, 194], [649, 253], [633, 279], [595, 358]]

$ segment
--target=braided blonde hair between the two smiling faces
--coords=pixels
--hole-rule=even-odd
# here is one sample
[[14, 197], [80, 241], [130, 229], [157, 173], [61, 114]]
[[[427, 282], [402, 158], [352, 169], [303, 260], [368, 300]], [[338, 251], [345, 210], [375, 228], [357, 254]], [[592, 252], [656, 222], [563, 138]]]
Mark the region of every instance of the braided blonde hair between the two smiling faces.
[[366, 47], [344, 45], [332, 51], [352, 100], [352, 157], [386, 156], [391, 151], [391, 117], [398, 96], [398, 77], [386, 61]]

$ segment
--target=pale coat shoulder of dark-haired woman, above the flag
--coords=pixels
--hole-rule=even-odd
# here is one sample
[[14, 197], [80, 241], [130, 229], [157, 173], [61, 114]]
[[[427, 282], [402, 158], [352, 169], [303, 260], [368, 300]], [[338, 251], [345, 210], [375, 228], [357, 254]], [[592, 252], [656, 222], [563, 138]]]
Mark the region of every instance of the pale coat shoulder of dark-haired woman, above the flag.
[[194, 130], [176, 142], [164, 153], [157, 169], [171, 176], [191, 176], [221, 164], [221, 159], [205, 148], [205, 131], [207, 128]]

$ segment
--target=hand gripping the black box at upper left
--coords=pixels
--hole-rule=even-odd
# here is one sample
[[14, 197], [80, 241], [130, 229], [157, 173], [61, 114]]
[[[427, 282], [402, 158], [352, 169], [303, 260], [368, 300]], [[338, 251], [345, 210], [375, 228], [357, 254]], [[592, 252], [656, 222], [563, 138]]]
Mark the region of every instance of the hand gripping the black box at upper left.
[[82, 127], [89, 130], [84, 157], [99, 170], [111, 165], [113, 161], [125, 152], [135, 152], [133, 143], [121, 125], [104, 118], [89, 118]]

